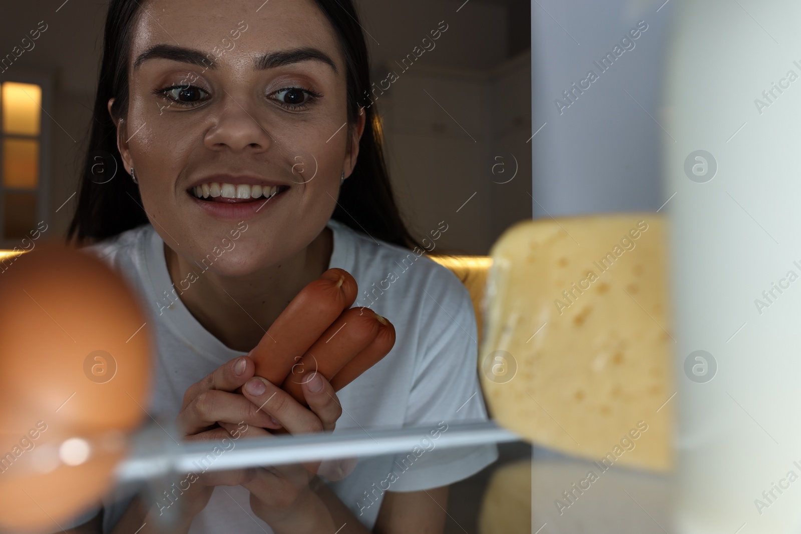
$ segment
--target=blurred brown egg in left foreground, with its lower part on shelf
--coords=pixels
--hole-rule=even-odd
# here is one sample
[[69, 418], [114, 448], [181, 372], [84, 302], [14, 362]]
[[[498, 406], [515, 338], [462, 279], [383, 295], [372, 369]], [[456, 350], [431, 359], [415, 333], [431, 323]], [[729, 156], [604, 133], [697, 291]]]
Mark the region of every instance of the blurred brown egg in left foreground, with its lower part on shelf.
[[147, 416], [151, 333], [101, 260], [42, 244], [0, 271], [0, 528], [58, 528]]

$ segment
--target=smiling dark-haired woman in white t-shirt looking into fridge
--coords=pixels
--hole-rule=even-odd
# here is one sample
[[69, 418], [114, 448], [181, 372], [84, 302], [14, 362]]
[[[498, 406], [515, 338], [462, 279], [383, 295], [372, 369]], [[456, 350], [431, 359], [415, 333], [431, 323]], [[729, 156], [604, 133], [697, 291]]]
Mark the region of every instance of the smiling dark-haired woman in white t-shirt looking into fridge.
[[[469, 295], [400, 219], [369, 88], [349, 0], [111, 1], [70, 237], [138, 291], [157, 342], [147, 412], [176, 440], [485, 419]], [[103, 153], [130, 176], [95, 179]], [[304, 408], [244, 354], [329, 267], [397, 339], [337, 394], [309, 379]], [[175, 509], [170, 532], [442, 532], [448, 484], [497, 453], [435, 440], [327, 482], [302, 466], [180, 477], [104, 502], [103, 532], [158, 532]]]

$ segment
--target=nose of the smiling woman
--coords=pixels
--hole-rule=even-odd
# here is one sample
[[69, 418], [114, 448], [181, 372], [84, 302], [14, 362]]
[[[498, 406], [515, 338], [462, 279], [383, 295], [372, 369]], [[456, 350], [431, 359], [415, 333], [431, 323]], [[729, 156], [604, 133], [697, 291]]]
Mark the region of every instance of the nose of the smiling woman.
[[248, 102], [226, 93], [223, 109], [215, 126], [208, 130], [204, 143], [214, 150], [233, 152], [264, 152], [270, 147], [272, 137], [257, 120], [256, 110], [246, 108]]

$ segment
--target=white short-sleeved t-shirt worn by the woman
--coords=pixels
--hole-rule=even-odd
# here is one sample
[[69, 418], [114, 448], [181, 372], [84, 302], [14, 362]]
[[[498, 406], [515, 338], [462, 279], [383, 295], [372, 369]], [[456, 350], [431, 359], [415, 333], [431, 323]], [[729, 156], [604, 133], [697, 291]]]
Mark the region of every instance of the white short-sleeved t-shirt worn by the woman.
[[[333, 219], [328, 227], [333, 231], [329, 268], [351, 273], [359, 287], [354, 305], [371, 307], [396, 329], [392, 351], [337, 393], [343, 415], [335, 432], [486, 420], [477, 379], [476, 318], [469, 293], [457, 277], [425, 254], [418, 257]], [[242, 353], [211, 335], [180, 299], [167, 298], [174, 286], [163, 245], [154, 227], [145, 224], [83, 250], [104, 259], [138, 293], [156, 345], [147, 412], [156, 420], [172, 422], [187, 387]], [[196, 273], [203, 276], [201, 269]], [[327, 484], [372, 530], [383, 497], [376, 488], [393, 492], [437, 488], [465, 479], [497, 459], [494, 445], [434, 448], [418, 452], [420, 456], [409, 456], [411, 452], [360, 459], [348, 477]], [[104, 533], [111, 532], [130, 499], [103, 500]], [[206, 508], [195, 516], [190, 534], [272, 533], [252, 513], [249, 499], [242, 486], [216, 487]]]

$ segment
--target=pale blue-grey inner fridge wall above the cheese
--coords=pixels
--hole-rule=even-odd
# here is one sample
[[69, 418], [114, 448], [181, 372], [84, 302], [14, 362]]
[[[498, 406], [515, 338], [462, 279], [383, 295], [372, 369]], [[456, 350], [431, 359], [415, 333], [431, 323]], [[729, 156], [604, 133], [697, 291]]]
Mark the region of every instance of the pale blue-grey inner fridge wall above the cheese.
[[[538, 2], [531, 10], [533, 131], [547, 124], [532, 140], [533, 196], [540, 204], [532, 203], [533, 213], [657, 210], [666, 200], [659, 185], [659, 73], [675, 2], [659, 11], [662, 2], [644, 0]], [[648, 29], [634, 49], [560, 114], [554, 100], [588, 70], [600, 73], [593, 61], [640, 20]]]

